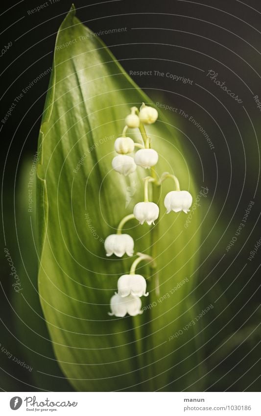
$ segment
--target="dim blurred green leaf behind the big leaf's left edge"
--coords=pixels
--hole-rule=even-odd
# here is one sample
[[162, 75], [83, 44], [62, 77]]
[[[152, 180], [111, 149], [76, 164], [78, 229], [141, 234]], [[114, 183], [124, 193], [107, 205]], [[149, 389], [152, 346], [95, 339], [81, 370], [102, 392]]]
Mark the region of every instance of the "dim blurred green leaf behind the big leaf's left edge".
[[[14, 241], [18, 246], [13, 249], [13, 252], [17, 252], [15, 263], [18, 268], [21, 291], [16, 293], [12, 288], [15, 322], [12, 351], [21, 362], [29, 366], [29, 368], [22, 367], [19, 374], [19, 377], [25, 380], [20, 390], [66, 392], [71, 390], [71, 385], [66, 379], [57, 378], [63, 377], [63, 374], [53, 353], [37, 288], [36, 160], [37, 154], [34, 154], [24, 161], [16, 195], [16, 238]], [[32, 199], [30, 205], [28, 204], [29, 196]], [[48, 372], [52, 372], [55, 377], [46, 376]]]

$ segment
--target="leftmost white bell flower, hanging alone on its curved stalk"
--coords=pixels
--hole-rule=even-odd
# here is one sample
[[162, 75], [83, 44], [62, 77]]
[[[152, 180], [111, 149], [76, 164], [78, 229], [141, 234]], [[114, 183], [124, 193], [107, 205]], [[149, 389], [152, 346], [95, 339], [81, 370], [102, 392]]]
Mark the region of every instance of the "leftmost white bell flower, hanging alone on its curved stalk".
[[133, 256], [134, 241], [129, 234], [111, 234], [104, 242], [106, 256], [115, 254], [117, 257], [122, 257], [123, 254]]

